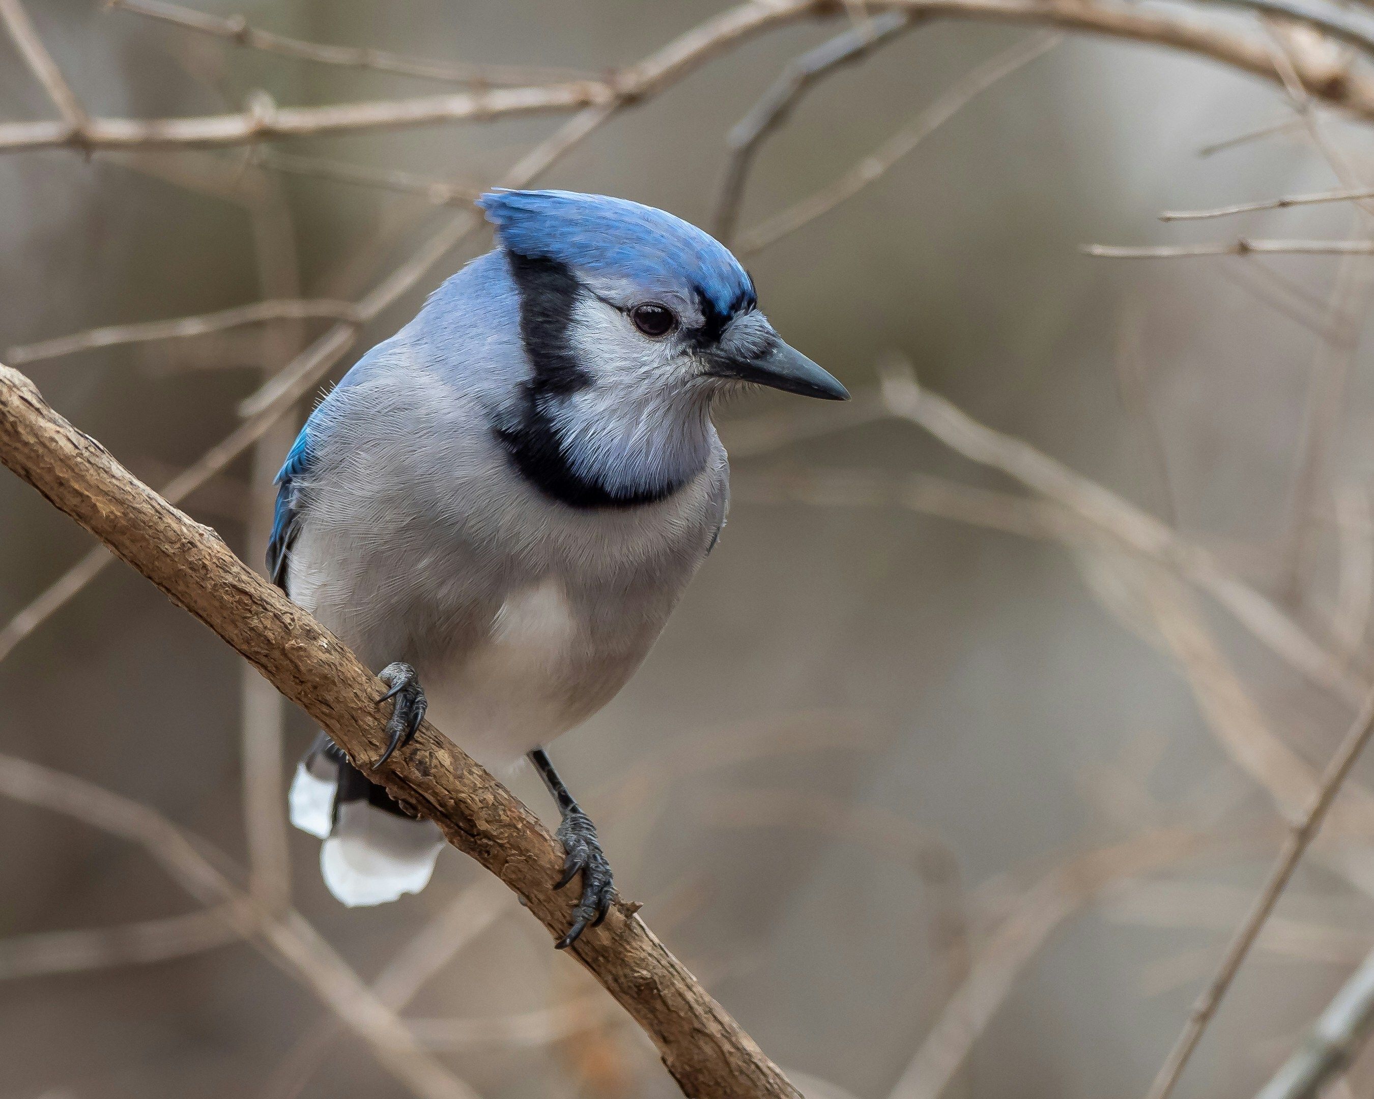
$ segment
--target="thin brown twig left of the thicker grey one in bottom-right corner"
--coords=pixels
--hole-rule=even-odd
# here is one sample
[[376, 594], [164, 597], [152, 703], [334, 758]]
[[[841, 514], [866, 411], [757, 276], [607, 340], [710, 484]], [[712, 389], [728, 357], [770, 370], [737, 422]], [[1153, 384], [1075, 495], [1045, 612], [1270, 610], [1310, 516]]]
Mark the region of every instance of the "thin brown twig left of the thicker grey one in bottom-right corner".
[[1316, 795], [1312, 798], [1303, 819], [1289, 832], [1254, 900], [1254, 905], [1237, 929], [1234, 938], [1226, 949], [1226, 955], [1221, 958], [1221, 963], [1217, 966], [1216, 974], [1208, 982], [1202, 995], [1198, 996], [1197, 1003], [1193, 1004], [1187, 1025], [1183, 1028], [1183, 1033], [1179, 1034], [1178, 1041], [1169, 1051], [1169, 1056], [1150, 1085], [1147, 1099], [1168, 1099], [1173, 1094], [1173, 1088], [1179, 1083], [1179, 1077], [1183, 1074], [1183, 1069], [1187, 1066], [1189, 1058], [1197, 1048], [1198, 1041], [1201, 1041], [1206, 1025], [1212, 1021], [1221, 999], [1231, 988], [1231, 981], [1235, 979], [1241, 963], [1264, 927], [1264, 920], [1268, 919], [1270, 912], [1274, 911], [1274, 905], [1278, 904], [1283, 887], [1289, 883], [1293, 871], [1297, 868], [1298, 860], [1320, 830], [1322, 822], [1326, 820], [1326, 815], [1341, 790], [1341, 783], [1351, 773], [1351, 768], [1355, 767], [1355, 761], [1369, 743], [1371, 735], [1374, 735], [1374, 694], [1370, 695], [1360, 709], [1355, 723], [1345, 734], [1341, 746], [1326, 765], [1326, 771], [1322, 772]]

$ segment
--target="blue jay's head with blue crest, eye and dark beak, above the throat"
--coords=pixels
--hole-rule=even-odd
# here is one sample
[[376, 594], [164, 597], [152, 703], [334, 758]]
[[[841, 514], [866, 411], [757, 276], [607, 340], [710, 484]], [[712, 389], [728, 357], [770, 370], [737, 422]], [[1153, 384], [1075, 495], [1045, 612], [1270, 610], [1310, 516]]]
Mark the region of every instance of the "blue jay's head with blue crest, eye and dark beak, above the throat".
[[695, 225], [570, 191], [493, 191], [478, 205], [510, 257], [521, 334], [548, 396], [595, 387], [709, 404], [754, 383], [848, 398], [782, 341], [758, 312], [747, 272]]

